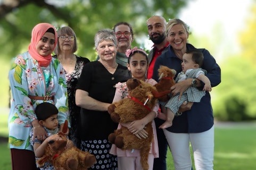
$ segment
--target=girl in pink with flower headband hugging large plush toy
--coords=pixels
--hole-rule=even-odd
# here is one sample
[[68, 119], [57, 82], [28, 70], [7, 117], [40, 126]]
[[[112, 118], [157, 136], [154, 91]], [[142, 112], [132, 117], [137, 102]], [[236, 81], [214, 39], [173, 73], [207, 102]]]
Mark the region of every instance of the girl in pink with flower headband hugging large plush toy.
[[[143, 80], [151, 85], [157, 82], [154, 79], [146, 79], [146, 71], [148, 69], [148, 59], [147, 54], [144, 50], [134, 47], [131, 50], [126, 51], [126, 56], [128, 57], [127, 67], [131, 72], [132, 77]], [[128, 90], [126, 83], [118, 83], [115, 85], [116, 91], [113, 102], [124, 99], [128, 96]], [[156, 104], [153, 111], [151, 111], [145, 118], [141, 120], [136, 120], [130, 123], [122, 123], [118, 125], [118, 128], [125, 126], [129, 129], [131, 133], [136, 135], [138, 138], [146, 138], [147, 134], [144, 131], [144, 127], [147, 123], [152, 121], [153, 135], [154, 139], [151, 146], [151, 151], [148, 156], [149, 170], [153, 169], [154, 158], [158, 157], [158, 143], [156, 139], [155, 123], [154, 118], [158, 113], [159, 105]], [[143, 170], [141, 166], [141, 156], [139, 155], [139, 150], [122, 150], [112, 145], [110, 153], [117, 155], [118, 157], [118, 169], [119, 170]]]

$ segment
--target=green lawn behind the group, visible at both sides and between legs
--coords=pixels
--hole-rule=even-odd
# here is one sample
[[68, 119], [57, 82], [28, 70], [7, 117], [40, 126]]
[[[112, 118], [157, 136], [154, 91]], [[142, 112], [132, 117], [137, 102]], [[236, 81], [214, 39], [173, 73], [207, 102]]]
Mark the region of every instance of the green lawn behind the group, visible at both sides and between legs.
[[[0, 136], [7, 136], [7, 114], [0, 114]], [[216, 126], [214, 146], [214, 169], [241, 170], [255, 169], [256, 126]], [[0, 143], [0, 169], [11, 169], [10, 149], [6, 142]], [[168, 170], [174, 169], [168, 152]], [[194, 168], [194, 165], [193, 165]], [[195, 170], [195, 168], [194, 168]]]

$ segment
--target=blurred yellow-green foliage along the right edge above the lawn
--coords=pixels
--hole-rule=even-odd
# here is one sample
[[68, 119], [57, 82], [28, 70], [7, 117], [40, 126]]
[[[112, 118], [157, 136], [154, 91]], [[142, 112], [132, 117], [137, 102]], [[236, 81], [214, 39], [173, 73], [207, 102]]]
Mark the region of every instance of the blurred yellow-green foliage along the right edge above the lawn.
[[241, 53], [222, 62], [222, 82], [216, 87], [216, 101], [213, 102], [214, 115], [219, 120], [256, 119], [255, 20], [254, 2], [244, 30], [237, 34]]

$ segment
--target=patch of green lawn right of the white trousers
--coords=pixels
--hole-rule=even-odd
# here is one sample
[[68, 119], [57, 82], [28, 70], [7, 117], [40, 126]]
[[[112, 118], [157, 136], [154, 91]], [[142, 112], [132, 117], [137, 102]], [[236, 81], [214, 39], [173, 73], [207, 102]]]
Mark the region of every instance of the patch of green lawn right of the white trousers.
[[255, 169], [256, 128], [218, 129], [215, 131], [215, 169]]

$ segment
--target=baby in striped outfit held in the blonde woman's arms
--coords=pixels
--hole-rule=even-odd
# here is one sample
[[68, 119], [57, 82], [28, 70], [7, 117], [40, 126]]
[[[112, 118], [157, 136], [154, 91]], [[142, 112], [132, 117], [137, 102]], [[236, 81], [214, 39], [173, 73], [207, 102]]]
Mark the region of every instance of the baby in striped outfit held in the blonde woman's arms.
[[181, 82], [187, 78], [197, 78], [204, 83], [204, 88], [203, 91], [200, 91], [192, 86], [188, 88], [181, 97], [179, 95], [171, 97], [165, 105], [166, 109], [161, 107], [161, 111], [166, 114], [167, 118], [159, 128], [165, 129], [172, 126], [172, 120], [174, 120], [175, 115], [178, 116], [181, 114], [178, 113], [178, 110], [183, 102], [200, 102], [201, 98], [205, 95], [205, 91], [211, 91], [211, 82], [209, 78], [205, 76], [207, 71], [201, 68], [202, 64], [203, 53], [201, 51], [190, 50], [184, 53], [183, 62], [181, 62], [182, 71], [177, 75], [176, 82]]

